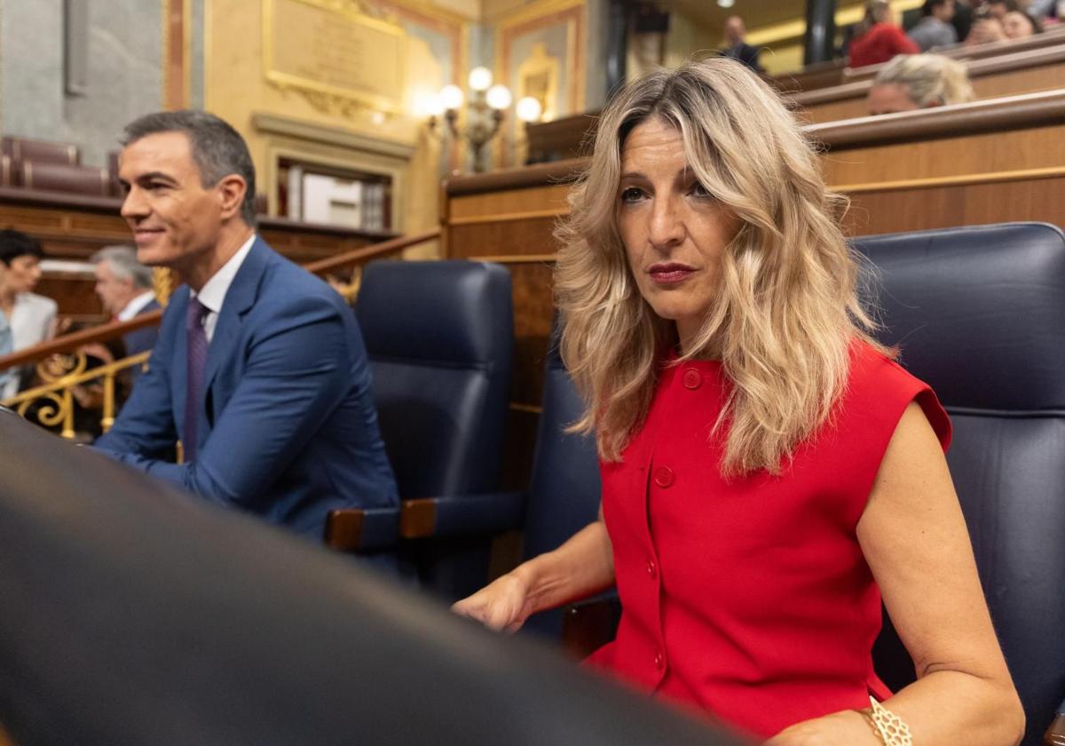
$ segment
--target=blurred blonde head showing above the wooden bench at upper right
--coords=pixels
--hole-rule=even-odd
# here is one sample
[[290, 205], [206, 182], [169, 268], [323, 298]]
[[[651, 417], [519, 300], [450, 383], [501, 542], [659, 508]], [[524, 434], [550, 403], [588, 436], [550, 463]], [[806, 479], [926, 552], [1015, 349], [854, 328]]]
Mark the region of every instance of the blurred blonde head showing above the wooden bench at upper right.
[[962, 63], [941, 54], [900, 54], [876, 74], [866, 103], [869, 115], [878, 116], [964, 103], [973, 98]]

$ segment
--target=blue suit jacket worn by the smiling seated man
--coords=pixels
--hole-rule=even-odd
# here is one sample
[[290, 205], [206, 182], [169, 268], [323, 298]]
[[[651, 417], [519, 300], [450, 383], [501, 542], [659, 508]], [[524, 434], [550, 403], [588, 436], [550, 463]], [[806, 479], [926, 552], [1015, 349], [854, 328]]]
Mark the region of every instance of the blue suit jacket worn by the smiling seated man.
[[183, 437], [187, 305], [182, 286], [163, 314], [148, 371], [98, 449], [315, 538], [330, 509], [397, 504], [355, 314], [259, 238], [208, 350], [196, 460], [162, 460]]

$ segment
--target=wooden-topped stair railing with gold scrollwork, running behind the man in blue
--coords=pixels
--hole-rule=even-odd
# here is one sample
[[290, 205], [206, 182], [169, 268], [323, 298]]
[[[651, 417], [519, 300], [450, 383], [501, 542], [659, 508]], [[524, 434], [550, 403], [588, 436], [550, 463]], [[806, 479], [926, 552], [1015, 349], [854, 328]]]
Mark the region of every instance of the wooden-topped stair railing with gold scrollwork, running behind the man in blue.
[[[400, 237], [346, 252], [329, 259], [311, 262], [305, 264], [304, 269], [316, 275], [328, 275], [339, 270], [351, 267], [354, 271], [349, 281], [331, 282], [337, 292], [350, 303], [359, 292], [362, 264], [372, 259], [397, 254], [420, 243], [433, 241], [439, 236], [440, 231], [433, 230], [416, 236]], [[61, 437], [71, 440], [78, 436], [75, 429], [78, 405], [89, 410], [98, 409], [101, 412], [100, 428], [106, 433], [114, 423], [115, 415], [120, 406], [117, 382], [124, 371], [134, 366], [145, 366], [150, 353], [141, 353], [103, 366], [88, 368], [88, 356], [85, 353], [85, 347], [117, 339], [134, 329], [155, 326], [162, 317], [162, 311], [152, 311], [131, 321], [104, 324], [95, 329], [65, 335], [0, 357], [0, 371], [16, 366], [36, 363], [37, 375], [44, 382], [40, 386], [22, 391], [0, 402], [0, 404], [27, 417], [33, 403], [40, 402], [40, 405], [32, 412], [36, 420], [46, 427], [58, 427]], [[101, 384], [89, 386], [94, 382], [101, 382]]]

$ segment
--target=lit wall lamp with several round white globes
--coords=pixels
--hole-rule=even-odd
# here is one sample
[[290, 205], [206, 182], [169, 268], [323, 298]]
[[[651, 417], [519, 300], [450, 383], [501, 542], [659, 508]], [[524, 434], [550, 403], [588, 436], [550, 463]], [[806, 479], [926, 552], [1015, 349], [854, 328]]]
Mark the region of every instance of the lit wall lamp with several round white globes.
[[[437, 119], [443, 116], [452, 136], [464, 137], [470, 143], [473, 169], [480, 173], [486, 168], [485, 146], [498, 133], [504, 112], [510, 108], [513, 96], [506, 85], [499, 83], [492, 85], [492, 71], [487, 67], [475, 67], [470, 70], [470, 91], [462, 125], [459, 124], [459, 114], [465, 95], [457, 85], [445, 85], [441, 88], [433, 100], [427, 102], [426, 113], [429, 115], [430, 128], [436, 127]], [[531, 96], [526, 96], [518, 102], [518, 118], [523, 121], [535, 121], [540, 118], [540, 102]]]

